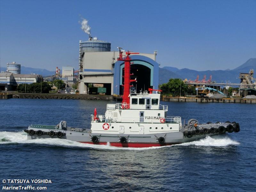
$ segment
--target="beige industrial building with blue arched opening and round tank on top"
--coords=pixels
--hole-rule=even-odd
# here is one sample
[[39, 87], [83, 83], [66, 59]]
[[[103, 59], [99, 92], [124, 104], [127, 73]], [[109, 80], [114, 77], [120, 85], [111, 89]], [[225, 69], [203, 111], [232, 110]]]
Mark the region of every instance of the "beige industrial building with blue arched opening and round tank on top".
[[[89, 37], [79, 42], [79, 93], [88, 94], [89, 84], [103, 84], [108, 95], [122, 95], [124, 83], [124, 61], [117, 61], [119, 52], [110, 51], [111, 44]], [[138, 51], [138, 50], [135, 50]], [[158, 66], [156, 51], [131, 56], [131, 79], [137, 92], [148, 88], [158, 89]]]

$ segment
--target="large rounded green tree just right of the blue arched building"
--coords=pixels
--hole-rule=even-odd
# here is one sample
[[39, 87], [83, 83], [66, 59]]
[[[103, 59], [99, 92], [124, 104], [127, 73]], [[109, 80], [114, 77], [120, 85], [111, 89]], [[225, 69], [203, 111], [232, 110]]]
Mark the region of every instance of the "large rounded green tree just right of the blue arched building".
[[171, 94], [173, 96], [185, 96], [188, 86], [181, 79], [170, 79], [168, 83], [161, 85], [163, 94]]

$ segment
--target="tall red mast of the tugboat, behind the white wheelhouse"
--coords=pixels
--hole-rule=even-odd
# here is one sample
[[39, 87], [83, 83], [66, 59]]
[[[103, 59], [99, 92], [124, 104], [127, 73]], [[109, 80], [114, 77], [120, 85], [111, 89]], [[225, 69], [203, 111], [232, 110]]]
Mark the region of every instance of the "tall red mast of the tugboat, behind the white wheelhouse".
[[132, 53], [132, 52], [126, 52], [126, 57], [123, 58], [123, 50], [122, 48], [118, 47], [119, 49], [119, 58], [117, 58], [118, 61], [124, 61], [124, 95], [123, 95], [123, 108], [129, 109], [130, 108], [130, 83], [136, 80], [131, 80], [131, 58], [129, 55], [131, 54], [140, 54], [140, 53]]

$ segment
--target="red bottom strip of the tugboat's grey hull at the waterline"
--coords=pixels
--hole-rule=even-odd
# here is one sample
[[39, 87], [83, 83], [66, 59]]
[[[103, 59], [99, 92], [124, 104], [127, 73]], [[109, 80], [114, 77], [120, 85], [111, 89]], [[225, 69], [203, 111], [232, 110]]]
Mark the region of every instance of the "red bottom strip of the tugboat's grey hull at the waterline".
[[[107, 145], [107, 142], [80, 142], [80, 143], [87, 143], [87, 144], [93, 144], [93, 145]], [[113, 147], [134, 147], [134, 148], [143, 148], [143, 147], [161, 147], [161, 146], [169, 146], [169, 145], [175, 145], [179, 143], [120, 143], [120, 142], [111, 142], [109, 143], [110, 146]]]

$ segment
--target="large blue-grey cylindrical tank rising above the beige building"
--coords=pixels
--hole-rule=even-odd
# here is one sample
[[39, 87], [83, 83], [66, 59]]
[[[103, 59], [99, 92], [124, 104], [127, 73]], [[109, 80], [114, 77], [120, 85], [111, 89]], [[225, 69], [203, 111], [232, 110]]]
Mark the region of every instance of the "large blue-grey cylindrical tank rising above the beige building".
[[111, 43], [100, 41], [97, 37], [89, 37], [88, 41], [80, 43], [81, 52], [107, 52], [111, 49]]

